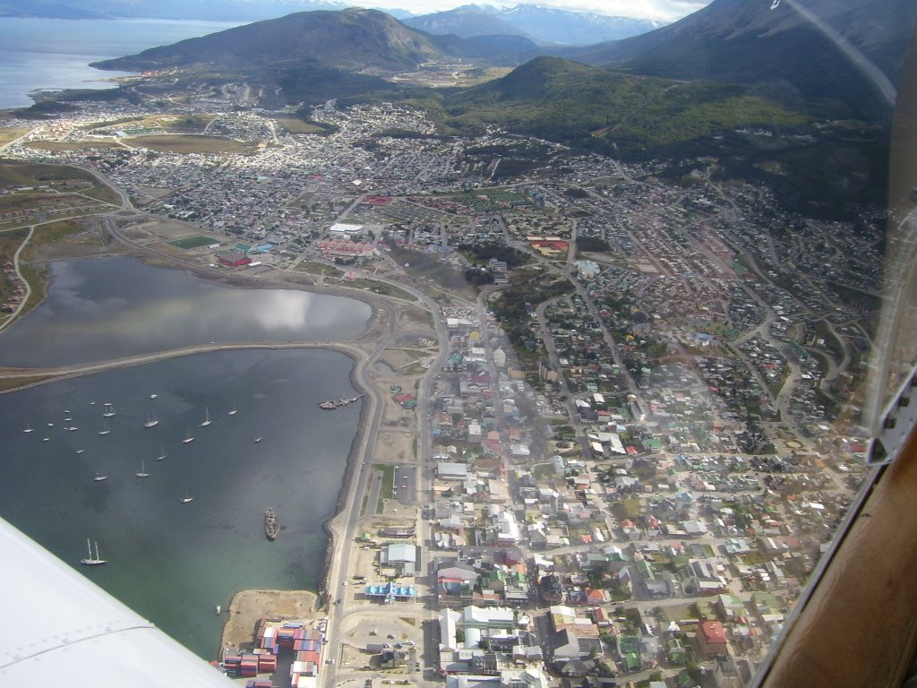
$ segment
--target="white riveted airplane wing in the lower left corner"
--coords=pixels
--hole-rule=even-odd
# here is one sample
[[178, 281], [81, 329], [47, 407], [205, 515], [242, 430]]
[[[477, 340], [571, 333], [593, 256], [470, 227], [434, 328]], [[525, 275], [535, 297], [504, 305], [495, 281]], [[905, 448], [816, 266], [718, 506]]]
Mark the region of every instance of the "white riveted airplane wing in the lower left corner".
[[0, 519], [0, 685], [233, 685]]

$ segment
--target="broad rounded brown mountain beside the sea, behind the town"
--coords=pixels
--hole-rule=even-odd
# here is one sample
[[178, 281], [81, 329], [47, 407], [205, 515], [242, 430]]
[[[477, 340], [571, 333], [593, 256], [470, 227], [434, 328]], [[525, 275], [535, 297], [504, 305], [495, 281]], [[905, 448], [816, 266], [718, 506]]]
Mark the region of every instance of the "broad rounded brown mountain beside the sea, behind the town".
[[399, 72], [443, 57], [431, 37], [384, 12], [350, 8], [299, 12], [94, 62], [99, 69], [145, 71], [191, 65], [222, 70], [318, 61], [337, 69]]

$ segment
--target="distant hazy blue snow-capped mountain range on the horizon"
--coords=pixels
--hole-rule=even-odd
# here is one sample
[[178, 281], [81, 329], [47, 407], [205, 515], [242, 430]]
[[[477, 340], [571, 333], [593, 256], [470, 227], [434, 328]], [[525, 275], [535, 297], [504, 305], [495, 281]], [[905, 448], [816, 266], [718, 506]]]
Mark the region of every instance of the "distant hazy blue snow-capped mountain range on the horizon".
[[476, 36], [525, 36], [542, 44], [591, 45], [646, 33], [664, 22], [630, 17], [608, 17], [557, 7], [517, 5], [507, 9], [465, 5], [446, 12], [403, 19], [409, 27], [427, 33]]

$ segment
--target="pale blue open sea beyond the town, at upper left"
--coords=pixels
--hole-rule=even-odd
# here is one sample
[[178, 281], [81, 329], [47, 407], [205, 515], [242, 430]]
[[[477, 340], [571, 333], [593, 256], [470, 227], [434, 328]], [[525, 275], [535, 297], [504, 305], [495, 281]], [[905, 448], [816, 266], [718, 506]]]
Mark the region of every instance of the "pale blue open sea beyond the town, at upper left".
[[128, 72], [89, 62], [205, 36], [237, 26], [169, 19], [35, 19], [0, 17], [0, 109], [32, 105], [38, 89], [110, 88]]

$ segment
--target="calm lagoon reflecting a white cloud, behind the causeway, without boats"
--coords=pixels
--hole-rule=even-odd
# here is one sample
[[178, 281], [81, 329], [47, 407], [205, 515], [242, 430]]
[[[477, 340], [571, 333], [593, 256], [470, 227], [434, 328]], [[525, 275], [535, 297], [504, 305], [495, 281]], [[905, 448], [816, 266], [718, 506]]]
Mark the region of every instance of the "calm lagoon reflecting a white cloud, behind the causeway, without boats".
[[46, 300], [0, 337], [0, 364], [58, 366], [195, 345], [359, 336], [356, 299], [243, 289], [115, 256], [50, 263]]

